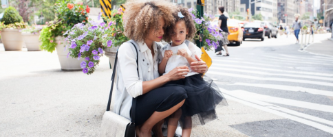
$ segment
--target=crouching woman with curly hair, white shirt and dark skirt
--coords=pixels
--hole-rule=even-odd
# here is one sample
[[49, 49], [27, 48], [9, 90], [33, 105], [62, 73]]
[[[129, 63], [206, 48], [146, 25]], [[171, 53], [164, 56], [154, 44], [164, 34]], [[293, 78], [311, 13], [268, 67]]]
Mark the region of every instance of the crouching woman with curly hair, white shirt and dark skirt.
[[[118, 49], [118, 86], [114, 112], [131, 119], [132, 98], [136, 97], [137, 136], [151, 136], [151, 130], [157, 136], [163, 136], [162, 120], [178, 110], [187, 98], [184, 88], [161, 87], [167, 82], [184, 79], [184, 75], [189, 72], [187, 66], [177, 67], [161, 77], [158, 73], [162, 55], [161, 46], [157, 42], [162, 40], [164, 27], [174, 21], [172, 12], [175, 5], [164, 1], [128, 2], [126, 8], [125, 35], [131, 38], [138, 49], [138, 65], [136, 49], [130, 42], [123, 43]], [[205, 73], [206, 63], [199, 58], [197, 60], [191, 64], [191, 69]]]

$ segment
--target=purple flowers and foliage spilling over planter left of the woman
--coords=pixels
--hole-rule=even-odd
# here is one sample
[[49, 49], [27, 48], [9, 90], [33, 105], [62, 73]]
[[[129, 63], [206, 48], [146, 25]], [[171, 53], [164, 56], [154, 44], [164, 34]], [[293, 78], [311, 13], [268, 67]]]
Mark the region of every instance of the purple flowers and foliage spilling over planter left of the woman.
[[105, 51], [106, 55], [107, 51], [109, 51], [108, 49], [118, 48], [123, 42], [129, 40], [122, 33], [121, 13], [118, 15], [117, 17], [114, 15], [113, 18], [105, 19], [107, 23], [94, 21], [89, 21], [85, 25], [78, 23], [69, 32], [65, 33], [68, 34], [65, 38], [67, 43], [69, 43], [66, 47], [69, 49], [68, 55], [73, 58], [84, 58], [80, 62], [83, 73], [94, 73], [96, 66], [100, 62], [100, 57], [104, 54], [103, 51]]

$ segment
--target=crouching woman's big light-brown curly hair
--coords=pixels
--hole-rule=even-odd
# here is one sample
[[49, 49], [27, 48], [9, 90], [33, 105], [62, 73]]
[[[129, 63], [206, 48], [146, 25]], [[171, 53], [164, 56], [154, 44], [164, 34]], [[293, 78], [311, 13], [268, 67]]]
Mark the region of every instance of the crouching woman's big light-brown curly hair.
[[150, 29], [158, 31], [160, 18], [164, 18], [164, 27], [174, 22], [172, 13], [175, 5], [167, 1], [129, 1], [125, 3], [125, 36], [143, 42]]

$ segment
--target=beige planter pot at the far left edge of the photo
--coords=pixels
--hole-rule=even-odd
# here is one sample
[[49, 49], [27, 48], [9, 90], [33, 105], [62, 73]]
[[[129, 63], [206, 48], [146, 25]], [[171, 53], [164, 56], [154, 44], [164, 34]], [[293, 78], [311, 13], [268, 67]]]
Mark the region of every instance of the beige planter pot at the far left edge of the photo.
[[2, 29], [1, 40], [5, 51], [21, 51], [23, 47], [23, 39], [20, 29]]

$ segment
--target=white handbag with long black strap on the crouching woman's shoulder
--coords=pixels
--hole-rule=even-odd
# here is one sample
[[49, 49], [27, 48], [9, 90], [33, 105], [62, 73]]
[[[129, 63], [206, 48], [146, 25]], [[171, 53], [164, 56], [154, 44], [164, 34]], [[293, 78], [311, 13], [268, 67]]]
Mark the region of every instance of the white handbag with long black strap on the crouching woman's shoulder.
[[[131, 42], [131, 44], [136, 48], [136, 46]], [[138, 65], [138, 50], [136, 49], [136, 64]], [[110, 111], [112, 90], [114, 88], [114, 77], [116, 74], [116, 66], [118, 61], [118, 51], [116, 53], [116, 60], [114, 62], [114, 70], [111, 77], [111, 89], [109, 95], [109, 101], [107, 103], [107, 111], [103, 115], [102, 125], [101, 125], [101, 136], [105, 137], [134, 137], [136, 136], [136, 98], [133, 98], [132, 108], [131, 108], [131, 121], [126, 119], [119, 114]], [[138, 71], [138, 69], [137, 69]], [[139, 71], [138, 71], [139, 75]]]

